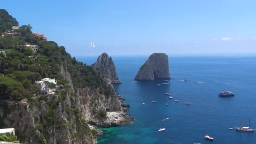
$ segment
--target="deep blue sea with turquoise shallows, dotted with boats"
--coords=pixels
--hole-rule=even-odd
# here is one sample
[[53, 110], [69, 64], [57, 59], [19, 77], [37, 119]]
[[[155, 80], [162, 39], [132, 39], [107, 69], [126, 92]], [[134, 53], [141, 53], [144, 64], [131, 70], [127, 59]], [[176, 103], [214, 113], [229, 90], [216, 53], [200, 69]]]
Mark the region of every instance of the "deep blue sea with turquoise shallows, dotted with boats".
[[[251, 127], [256, 128], [256, 57], [169, 56], [171, 81], [163, 85], [158, 84], [168, 81], [134, 82], [148, 57], [112, 59], [123, 82], [116, 85], [116, 92], [130, 104], [128, 113], [135, 120], [130, 125], [107, 128], [98, 138], [99, 144], [256, 144], [256, 131], [229, 130], [240, 126], [240, 118], [242, 126], [248, 126], [249, 117]], [[93, 64], [97, 57], [78, 60]], [[184, 79], [187, 81], [181, 81]], [[235, 96], [219, 97], [221, 91], [232, 91]], [[171, 93], [173, 99], [165, 93]], [[186, 101], [191, 104], [184, 104]], [[166, 117], [169, 120], [162, 121]], [[159, 128], [166, 131], [156, 132]], [[208, 141], [204, 135], [214, 140]]]

